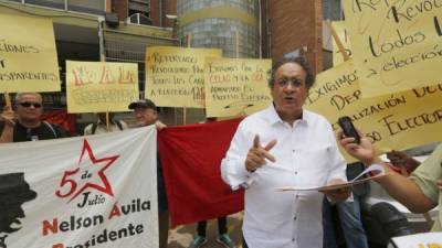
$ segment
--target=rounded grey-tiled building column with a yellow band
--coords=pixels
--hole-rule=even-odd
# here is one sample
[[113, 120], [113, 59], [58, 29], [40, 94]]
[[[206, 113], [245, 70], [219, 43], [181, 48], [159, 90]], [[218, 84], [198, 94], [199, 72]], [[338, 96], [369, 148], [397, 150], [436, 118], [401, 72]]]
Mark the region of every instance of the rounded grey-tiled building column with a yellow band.
[[257, 10], [250, 0], [178, 1], [178, 37], [186, 46], [222, 48], [224, 57], [257, 57]]

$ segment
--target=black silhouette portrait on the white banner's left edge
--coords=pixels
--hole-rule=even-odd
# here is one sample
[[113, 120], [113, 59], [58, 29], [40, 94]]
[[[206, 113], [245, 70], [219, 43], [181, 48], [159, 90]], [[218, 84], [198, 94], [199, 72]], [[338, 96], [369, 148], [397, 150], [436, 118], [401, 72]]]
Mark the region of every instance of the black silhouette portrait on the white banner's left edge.
[[21, 205], [36, 197], [24, 181], [24, 173], [0, 174], [0, 248], [7, 248], [6, 238], [21, 228], [24, 212]]

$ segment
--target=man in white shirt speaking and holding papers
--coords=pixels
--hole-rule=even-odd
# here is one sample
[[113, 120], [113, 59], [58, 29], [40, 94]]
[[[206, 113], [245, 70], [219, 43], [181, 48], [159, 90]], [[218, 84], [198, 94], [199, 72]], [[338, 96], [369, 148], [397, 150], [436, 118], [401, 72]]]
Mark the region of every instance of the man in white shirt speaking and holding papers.
[[[275, 64], [269, 80], [273, 104], [238, 127], [221, 163], [223, 180], [244, 187], [243, 235], [250, 248], [322, 248], [322, 203], [316, 191], [277, 192], [346, 181], [346, 163], [330, 123], [303, 109], [314, 76], [303, 58]], [[323, 192], [345, 201], [350, 192]]]

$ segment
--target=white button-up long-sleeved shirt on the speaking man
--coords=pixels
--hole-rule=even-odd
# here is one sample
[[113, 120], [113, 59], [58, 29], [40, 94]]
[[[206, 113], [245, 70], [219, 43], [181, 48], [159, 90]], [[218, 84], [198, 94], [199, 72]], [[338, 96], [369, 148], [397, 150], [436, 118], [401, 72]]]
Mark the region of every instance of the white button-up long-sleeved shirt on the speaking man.
[[[250, 173], [245, 159], [260, 136], [276, 162], [266, 161]], [[322, 205], [324, 194], [316, 191], [277, 192], [280, 186], [326, 185], [332, 179], [346, 177], [330, 123], [322, 116], [303, 110], [302, 119], [291, 127], [273, 105], [246, 117], [238, 127], [221, 162], [223, 180], [239, 188], [246, 185], [244, 200], [244, 239], [250, 248], [323, 248]]]

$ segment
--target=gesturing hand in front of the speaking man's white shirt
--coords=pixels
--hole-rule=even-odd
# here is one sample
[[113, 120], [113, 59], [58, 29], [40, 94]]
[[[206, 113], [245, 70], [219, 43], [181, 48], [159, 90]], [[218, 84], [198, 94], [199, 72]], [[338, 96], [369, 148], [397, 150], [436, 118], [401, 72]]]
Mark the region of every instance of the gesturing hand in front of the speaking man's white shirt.
[[265, 147], [260, 143], [260, 136], [253, 138], [253, 147], [249, 150], [248, 158], [245, 159], [245, 169], [253, 172], [265, 164], [265, 159], [275, 162], [275, 158], [269, 152], [275, 147], [276, 140], [270, 141]]

